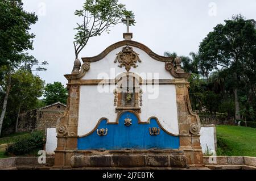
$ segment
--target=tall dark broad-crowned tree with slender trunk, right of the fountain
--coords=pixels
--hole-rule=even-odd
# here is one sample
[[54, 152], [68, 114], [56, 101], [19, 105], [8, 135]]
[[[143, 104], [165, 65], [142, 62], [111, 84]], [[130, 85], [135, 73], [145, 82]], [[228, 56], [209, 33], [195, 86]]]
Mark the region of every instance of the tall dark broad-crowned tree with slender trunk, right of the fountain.
[[[228, 69], [234, 77], [233, 92], [237, 120], [241, 119], [238, 87], [244, 76], [249, 79], [253, 78], [248, 76], [246, 70], [255, 68], [255, 50], [255, 21], [246, 20], [242, 15], [225, 20], [225, 24], [218, 24], [200, 44], [200, 64], [205, 69], [208, 71], [220, 68]], [[246, 68], [246, 65], [250, 65], [250, 68]]]

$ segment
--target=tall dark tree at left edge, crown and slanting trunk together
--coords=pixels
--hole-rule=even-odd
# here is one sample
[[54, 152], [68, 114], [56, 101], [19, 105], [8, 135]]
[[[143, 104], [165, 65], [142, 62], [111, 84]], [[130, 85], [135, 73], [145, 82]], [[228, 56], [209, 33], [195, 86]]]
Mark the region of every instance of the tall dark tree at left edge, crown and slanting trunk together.
[[[38, 20], [35, 13], [24, 11], [22, 0], [0, 1], [0, 12], [0, 90], [5, 94], [0, 116], [1, 133], [12, 74], [20, 66], [32, 71], [32, 65], [39, 65], [39, 62], [35, 57], [26, 53], [26, 50], [33, 49], [32, 39], [35, 35], [29, 30], [31, 24], [35, 24]], [[42, 65], [46, 64], [47, 62], [42, 63]], [[45, 69], [38, 67], [37, 70]]]

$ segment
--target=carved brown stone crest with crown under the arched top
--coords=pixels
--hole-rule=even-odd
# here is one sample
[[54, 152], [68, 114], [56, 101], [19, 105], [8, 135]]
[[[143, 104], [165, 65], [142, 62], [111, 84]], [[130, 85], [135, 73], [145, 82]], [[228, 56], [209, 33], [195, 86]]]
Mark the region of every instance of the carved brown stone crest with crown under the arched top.
[[117, 62], [119, 62], [119, 68], [125, 66], [126, 71], [129, 72], [131, 67], [138, 67], [137, 62], [141, 62], [141, 59], [139, 58], [139, 54], [134, 52], [133, 48], [127, 45], [122, 48], [121, 52], [117, 53], [114, 63]]

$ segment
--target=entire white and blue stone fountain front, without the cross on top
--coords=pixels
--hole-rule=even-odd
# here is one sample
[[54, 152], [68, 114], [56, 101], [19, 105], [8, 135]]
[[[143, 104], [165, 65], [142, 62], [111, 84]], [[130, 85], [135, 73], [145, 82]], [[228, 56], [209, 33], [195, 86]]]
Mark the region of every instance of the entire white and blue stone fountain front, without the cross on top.
[[181, 58], [136, 41], [76, 60], [57, 121], [55, 167], [203, 166], [200, 119]]

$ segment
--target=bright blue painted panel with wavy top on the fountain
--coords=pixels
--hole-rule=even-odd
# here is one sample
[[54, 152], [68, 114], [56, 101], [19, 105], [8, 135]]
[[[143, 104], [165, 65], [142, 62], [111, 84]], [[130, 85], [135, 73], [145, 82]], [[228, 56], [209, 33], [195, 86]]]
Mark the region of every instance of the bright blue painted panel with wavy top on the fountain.
[[[132, 125], [126, 127], [124, 120], [129, 117]], [[155, 119], [150, 124], [138, 124], [137, 116], [125, 112], [120, 116], [119, 124], [107, 124], [102, 120], [97, 129], [108, 129], [106, 136], [98, 136], [97, 130], [88, 136], [78, 138], [78, 150], [119, 150], [119, 149], [178, 149], [179, 137], [167, 134], [160, 128], [158, 136], [151, 136], [148, 128], [160, 128]]]

